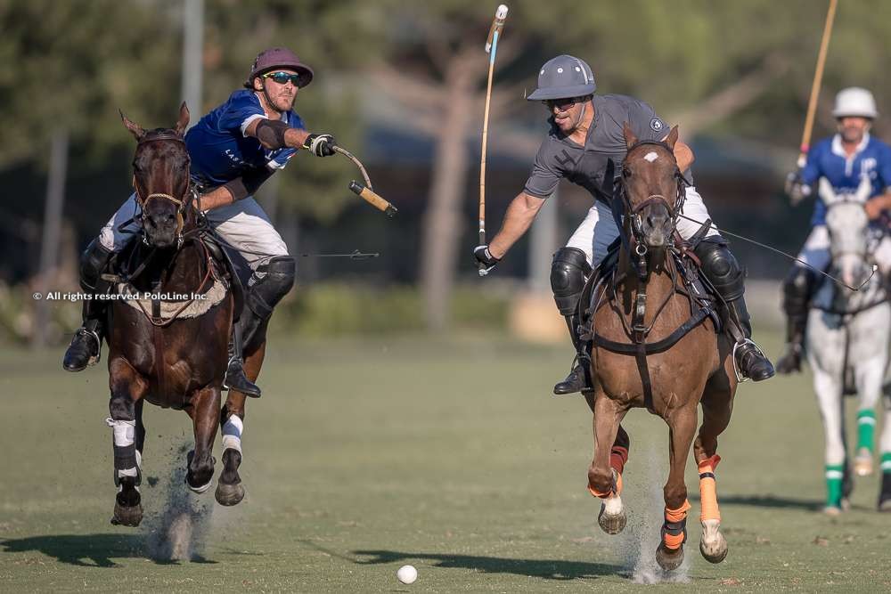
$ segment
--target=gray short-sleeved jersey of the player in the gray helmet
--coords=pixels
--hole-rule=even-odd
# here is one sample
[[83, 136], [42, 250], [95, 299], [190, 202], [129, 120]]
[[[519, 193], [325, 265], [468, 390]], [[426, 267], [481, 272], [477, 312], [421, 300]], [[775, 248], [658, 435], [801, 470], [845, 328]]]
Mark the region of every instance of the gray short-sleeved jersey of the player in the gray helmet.
[[[621, 174], [625, 160], [623, 124], [628, 122], [640, 140], [659, 141], [669, 132], [668, 126], [648, 104], [626, 95], [593, 95], [594, 120], [584, 147], [563, 137], [552, 126], [542, 142], [526, 187], [527, 194], [547, 198], [557, 189], [560, 178], [582, 186], [594, 199], [603, 199], [601, 187], [607, 162], [613, 160], [615, 176]], [[684, 175], [692, 184], [692, 175]]]

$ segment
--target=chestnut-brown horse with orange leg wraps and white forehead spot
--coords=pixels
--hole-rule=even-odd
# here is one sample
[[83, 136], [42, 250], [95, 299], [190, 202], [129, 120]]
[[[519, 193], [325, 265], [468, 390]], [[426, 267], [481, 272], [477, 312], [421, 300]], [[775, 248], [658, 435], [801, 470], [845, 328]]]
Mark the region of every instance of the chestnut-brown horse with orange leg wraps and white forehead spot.
[[730, 422], [737, 387], [732, 341], [715, 332], [707, 305], [700, 305], [679, 270], [684, 264], [677, 256], [692, 250], [675, 240], [683, 204], [683, 177], [674, 159], [677, 137], [675, 126], [665, 142], [639, 142], [625, 125], [628, 152], [613, 201], [613, 209], [623, 215], [622, 247], [611, 276], [602, 279], [582, 305], [593, 312], [589, 338], [594, 388], [585, 394], [594, 416], [588, 490], [602, 500], [601, 528], [621, 532], [626, 518], [620, 494], [629, 440], [620, 423], [627, 411], [642, 407], [664, 419], [670, 471], [656, 558], [669, 571], [683, 561], [690, 509], [683, 472], [699, 404], [703, 421], [693, 444], [702, 503], [699, 549], [713, 563], [727, 555], [715, 492], [720, 460], [716, 450], [717, 437]]

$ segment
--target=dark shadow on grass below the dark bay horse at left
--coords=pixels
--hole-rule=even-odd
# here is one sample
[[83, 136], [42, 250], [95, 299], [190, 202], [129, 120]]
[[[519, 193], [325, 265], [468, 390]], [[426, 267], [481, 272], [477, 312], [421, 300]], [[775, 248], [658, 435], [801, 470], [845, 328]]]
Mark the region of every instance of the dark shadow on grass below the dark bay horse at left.
[[[0, 552], [38, 551], [61, 563], [84, 567], [117, 567], [113, 558], [151, 559], [161, 566], [179, 565], [179, 561], [151, 554], [143, 534], [50, 534], [0, 541]], [[217, 563], [192, 555], [192, 563]]]

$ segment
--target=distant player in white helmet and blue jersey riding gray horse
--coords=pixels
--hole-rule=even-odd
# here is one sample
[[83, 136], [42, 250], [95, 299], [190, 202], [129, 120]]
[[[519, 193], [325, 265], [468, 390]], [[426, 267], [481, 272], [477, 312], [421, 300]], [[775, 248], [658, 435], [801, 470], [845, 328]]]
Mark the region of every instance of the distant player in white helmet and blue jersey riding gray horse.
[[[854, 193], [862, 175], [869, 175], [872, 196], [866, 202], [866, 213], [874, 224], [880, 224], [883, 213], [891, 208], [891, 147], [870, 135], [872, 120], [879, 116], [876, 102], [866, 89], [843, 89], [836, 96], [832, 115], [838, 122], [838, 134], [813, 147], [801, 173], [789, 175], [786, 193], [795, 204], [813, 193], [821, 177], [832, 184], [836, 193]], [[817, 199], [813, 209], [811, 226], [805, 247], [798, 257], [817, 270], [825, 270], [832, 258], [830, 235], [826, 230], [826, 205], [820, 199]], [[891, 253], [884, 246], [876, 251], [875, 256], [881, 268], [887, 270], [891, 266]], [[787, 334], [786, 351], [776, 366], [780, 373], [801, 370], [807, 310], [817, 281], [817, 273], [796, 264], [783, 283]]]

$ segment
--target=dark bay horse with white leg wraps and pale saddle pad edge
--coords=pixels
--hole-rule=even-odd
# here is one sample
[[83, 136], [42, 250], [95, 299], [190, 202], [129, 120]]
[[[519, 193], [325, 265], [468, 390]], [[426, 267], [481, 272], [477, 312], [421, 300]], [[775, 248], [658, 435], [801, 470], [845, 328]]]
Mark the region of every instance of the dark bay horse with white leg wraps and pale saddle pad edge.
[[[183, 410], [192, 418], [195, 447], [188, 456], [186, 483], [194, 492], [210, 486], [234, 299], [225, 267], [211, 257], [192, 207], [196, 194], [183, 137], [189, 123], [185, 103], [170, 129], [146, 131], [123, 114], [121, 118], [137, 141], [133, 168], [143, 237], [117, 256], [109, 275], [116, 288], [110, 297], [120, 297], [110, 307], [107, 325], [108, 424], [113, 429], [118, 486], [111, 522], [135, 526], [143, 517], [139, 484], [144, 401]], [[238, 476], [241, 418], [229, 410], [227, 403], [222, 419], [224, 469], [217, 484], [217, 500], [224, 505], [244, 496]]]

